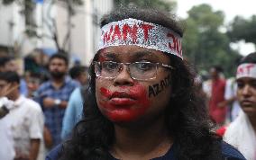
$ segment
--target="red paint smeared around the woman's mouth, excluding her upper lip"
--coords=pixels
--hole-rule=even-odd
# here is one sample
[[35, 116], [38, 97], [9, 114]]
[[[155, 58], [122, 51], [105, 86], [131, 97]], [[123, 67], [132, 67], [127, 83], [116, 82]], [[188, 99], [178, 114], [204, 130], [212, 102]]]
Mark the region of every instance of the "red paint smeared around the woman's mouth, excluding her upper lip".
[[[124, 90], [125, 87], [122, 88]], [[100, 92], [103, 96], [107, 98], [110, 98], [113, 94], [103, 87], [100, 88]], [[129, 104], [129, 102], [127, 103], [127, 105], [125, 105], [125, 103], [123, 103], [123, 105], [114, 105], [114, 103], [111, 102], [111, 99], [107, 101], [100, 101], [99, 107], [101, 107], [101, 111], [104, 112], [105, 116], [108, 117], [108, 119], [116, 122], [128, 122], [138, 120], [150, 107], [150, 101], [147, 96], [146, 88], [142, 84], [134, 84], [133, 87], [129, 87], [129, 89], [122, 92], [128, 93], [133, 96], [135, 102], [131, 105]]]

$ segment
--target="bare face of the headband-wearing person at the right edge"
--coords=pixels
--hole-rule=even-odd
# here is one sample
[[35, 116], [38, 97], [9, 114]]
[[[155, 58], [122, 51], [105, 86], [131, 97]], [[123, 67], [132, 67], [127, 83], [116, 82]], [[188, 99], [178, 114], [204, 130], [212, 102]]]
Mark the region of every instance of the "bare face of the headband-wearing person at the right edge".
[[256, 79], [241, 77], [237, 81], [237, 98], [242, 110], [249, 116], [256, 118]]

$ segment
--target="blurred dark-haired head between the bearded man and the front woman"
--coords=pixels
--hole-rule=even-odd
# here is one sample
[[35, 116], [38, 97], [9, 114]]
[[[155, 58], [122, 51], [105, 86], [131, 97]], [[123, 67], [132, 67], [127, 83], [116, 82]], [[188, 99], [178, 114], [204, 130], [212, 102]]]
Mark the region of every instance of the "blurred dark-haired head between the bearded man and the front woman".
[[75, 81], [78, 81], [80, 85], [87, 84], [87, 71], [88, 67], [75, 66], [69, 69], [69, 76]]

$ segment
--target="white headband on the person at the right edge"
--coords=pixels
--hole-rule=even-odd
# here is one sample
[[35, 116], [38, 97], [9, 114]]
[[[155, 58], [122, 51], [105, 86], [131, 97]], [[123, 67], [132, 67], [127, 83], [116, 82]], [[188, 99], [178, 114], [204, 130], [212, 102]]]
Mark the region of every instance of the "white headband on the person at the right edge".
[[256, 64], [244, 63], [237, 67], [236, 79], [241, 77], [251, 77], [256, 78]]

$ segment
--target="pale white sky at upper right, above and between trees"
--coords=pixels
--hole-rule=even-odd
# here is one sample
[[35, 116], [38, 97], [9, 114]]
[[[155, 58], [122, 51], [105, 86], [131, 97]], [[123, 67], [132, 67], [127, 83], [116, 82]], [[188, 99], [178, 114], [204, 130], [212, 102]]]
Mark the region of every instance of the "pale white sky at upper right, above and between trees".
[[[252, 14], [256, 14], [256, 0], [177, 0], [178, 16], [187, 17], [187, 11], [197, 4], [210, 4], [214, 11], [221, 10], [225, 14], [225, 24], [233, 20], [236, 15], [244, 18], [250, 18]], [[242, 55], [247, 55], [255, 51], [255, 46], [251, 43], [240, 41], [232, 44], [233, 49], [238, 49]]]

